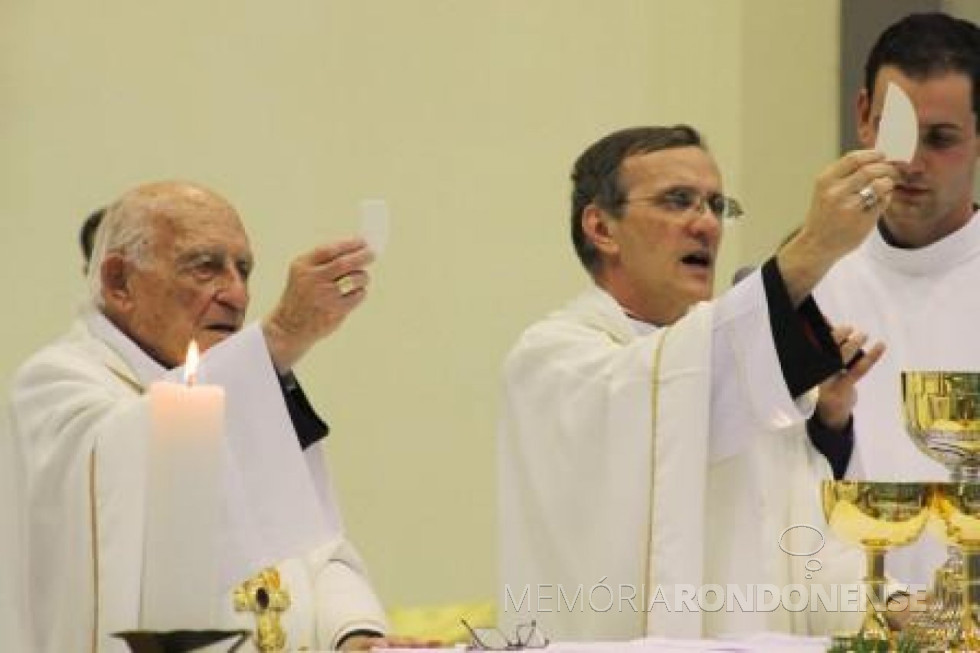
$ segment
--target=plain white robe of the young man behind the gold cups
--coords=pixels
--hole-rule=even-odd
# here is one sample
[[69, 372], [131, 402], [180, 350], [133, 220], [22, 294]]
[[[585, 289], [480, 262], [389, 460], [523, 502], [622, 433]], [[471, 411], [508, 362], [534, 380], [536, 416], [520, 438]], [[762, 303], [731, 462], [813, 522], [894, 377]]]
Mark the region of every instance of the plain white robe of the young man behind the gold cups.
[[[903, 370], [980, 371], [980, 219], [919, 249], [888, 245], [876, 229], [841, 259], [817, 286], [827, 318], [867, 333], [887, 346], [858, 384], [854, 455], [847, 477], [875, 481], [946, 481], [946, 469], [920, 452], [902, 417]], [[909, 547], [889, 552], [897, 580], [932, 582], [945, 558], [937, 538], [925, 533]]]

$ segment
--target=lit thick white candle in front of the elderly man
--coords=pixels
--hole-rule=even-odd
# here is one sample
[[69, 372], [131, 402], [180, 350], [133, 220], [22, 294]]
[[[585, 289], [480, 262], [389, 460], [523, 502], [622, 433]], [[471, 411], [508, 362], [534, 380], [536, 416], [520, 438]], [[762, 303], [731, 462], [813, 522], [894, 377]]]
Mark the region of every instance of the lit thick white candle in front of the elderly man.
[[145, 542], [140, 626], [213, 628], [219, 596], [217, 534], [225, 392], [186, 382], [150, 386]]

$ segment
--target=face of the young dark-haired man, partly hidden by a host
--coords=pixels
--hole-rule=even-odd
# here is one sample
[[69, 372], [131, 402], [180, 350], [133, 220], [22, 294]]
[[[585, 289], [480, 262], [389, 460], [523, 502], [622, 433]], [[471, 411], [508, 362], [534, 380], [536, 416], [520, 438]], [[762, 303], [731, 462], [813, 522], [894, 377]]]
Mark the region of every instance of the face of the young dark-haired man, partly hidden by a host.
[[888, 230], [901, 244], [919, 247], [956, 231], [973, 214], [973, 172], [980, 141], [967, 75], [941, 73], [916, 80], [884, 66], [874, 97], [858, 99], [858, 135], [874, 146], [888, 82], [902, 87], [919, 119], [919, 145], [908, 164], [899, 164], [901, 180], [885, 215]]

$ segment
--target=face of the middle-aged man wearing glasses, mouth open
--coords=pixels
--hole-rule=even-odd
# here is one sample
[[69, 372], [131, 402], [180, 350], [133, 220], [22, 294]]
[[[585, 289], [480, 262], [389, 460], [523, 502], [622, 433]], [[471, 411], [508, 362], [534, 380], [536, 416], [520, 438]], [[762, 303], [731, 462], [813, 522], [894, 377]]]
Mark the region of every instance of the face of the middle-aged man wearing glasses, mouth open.
[[699, 147], [660, 150], [627, 157], [620, 185], [627, 202], [620, 218], [607, 221], [611, 242], [603, 274], [621, 285], [628, 298], [617, 299], [636, 317], [673, 323], [711, 298], [721, 239], [721, 221], [707, 202], [681, 210], [674, 198], [717, 199], [718, 168]]

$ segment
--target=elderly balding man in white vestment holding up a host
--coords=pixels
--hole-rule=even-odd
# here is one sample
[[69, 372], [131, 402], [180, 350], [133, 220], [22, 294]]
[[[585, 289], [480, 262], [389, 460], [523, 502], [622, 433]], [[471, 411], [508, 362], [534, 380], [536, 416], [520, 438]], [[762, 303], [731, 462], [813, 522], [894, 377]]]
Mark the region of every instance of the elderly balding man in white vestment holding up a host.
[[[275, 308], [245, 325], [252, 252], [225, 199], [159, 182], [109, 208], [91, 306], [17, 371], [8, 406], [26, 488], [32, 650], [125, 650], [112, 634], [146, 626], [146, 533], [158, 517], [147, 503], [148, 387], [179, 381], [192, 339], [226, 414], [219, 509], [200, 545], [216, 547], [219, 568], [213, 583], [197, 579], [213, 594], [211, 617], [185, 626], [290, 649], [390, 643], [331, 493], [327, 426], [291, 373], [364, 300], [372, 260], [361, 239], [312, 249], [292, 262]], [[270, 602], [275, 614], [262, 613]]]

